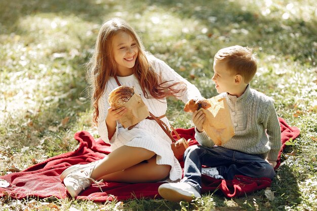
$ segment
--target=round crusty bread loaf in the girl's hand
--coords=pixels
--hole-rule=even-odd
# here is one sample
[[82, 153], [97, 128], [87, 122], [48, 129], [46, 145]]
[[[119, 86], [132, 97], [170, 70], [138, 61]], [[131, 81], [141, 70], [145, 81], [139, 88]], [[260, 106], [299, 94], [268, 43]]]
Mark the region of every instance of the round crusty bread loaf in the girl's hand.
[[109, 103], [114, 109], [120, 108], [134, 95], [134, 90], [128, 86], [120, 86], [109, 94]]

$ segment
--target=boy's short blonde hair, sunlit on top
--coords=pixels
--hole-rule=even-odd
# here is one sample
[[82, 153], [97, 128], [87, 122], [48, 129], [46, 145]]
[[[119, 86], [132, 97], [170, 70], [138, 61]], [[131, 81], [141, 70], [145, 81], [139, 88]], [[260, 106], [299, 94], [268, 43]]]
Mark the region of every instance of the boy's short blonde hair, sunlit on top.
[[234, 74], [243, 76], [249, 83], [257, 70], [257, 61], [253, 49], [242, 46], [231, 46], [220, 49], [215, 55], [215, 61], [226, 62], [227, 69]]

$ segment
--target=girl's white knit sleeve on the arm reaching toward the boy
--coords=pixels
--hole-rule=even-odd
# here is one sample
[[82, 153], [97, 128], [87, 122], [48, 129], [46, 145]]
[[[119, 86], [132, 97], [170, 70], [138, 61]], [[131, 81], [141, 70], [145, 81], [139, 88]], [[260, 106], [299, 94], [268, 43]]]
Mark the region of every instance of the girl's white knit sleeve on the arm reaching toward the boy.
[[161, 76], [162, 82], [168, 81], [167, 86], [172, 85], [175, 81], [182, 81], [183, 83], [175, 86], [175, 89], [182, 89], [186, 86], [185, 91], [177, 94], [176, 98], [186, 103], [190, 99], [202, 98], [200, 91], [189, 81], [179, 75], [164, 61], [150, 56], [151, 64], [153, 65], [154, 71]]

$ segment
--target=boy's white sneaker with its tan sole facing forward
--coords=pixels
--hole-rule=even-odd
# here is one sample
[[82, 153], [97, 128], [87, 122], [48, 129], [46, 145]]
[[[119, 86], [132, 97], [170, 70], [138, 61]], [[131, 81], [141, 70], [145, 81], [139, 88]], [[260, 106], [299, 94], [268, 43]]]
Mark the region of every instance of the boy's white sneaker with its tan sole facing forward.
[[164, 183], [159, 187], [160, 195], [166, 200], [190, 202], [194, 198], [201, 198], [201, 194], [188, 183]]

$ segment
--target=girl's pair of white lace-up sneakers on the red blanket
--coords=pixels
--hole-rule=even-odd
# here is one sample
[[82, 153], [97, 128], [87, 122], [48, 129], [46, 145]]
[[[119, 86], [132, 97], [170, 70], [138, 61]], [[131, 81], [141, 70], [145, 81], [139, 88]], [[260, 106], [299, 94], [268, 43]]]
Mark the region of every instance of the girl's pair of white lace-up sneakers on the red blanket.
[[77, 166], [76, 170], [68, 174], [63, 180], [64, 185], [67, 188], [68, 193], [71, 197], [76, 197], [80, 192], [89, 187], [92, 183], [95, 183], [102, 192], [102, 189], [99, 185], [102, 181], [95, 181], [91, 178], [91, 174], [95, 168], [96, 163], [89, 163], [90, 165], [83, 164], [79, 167]]

